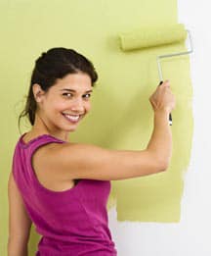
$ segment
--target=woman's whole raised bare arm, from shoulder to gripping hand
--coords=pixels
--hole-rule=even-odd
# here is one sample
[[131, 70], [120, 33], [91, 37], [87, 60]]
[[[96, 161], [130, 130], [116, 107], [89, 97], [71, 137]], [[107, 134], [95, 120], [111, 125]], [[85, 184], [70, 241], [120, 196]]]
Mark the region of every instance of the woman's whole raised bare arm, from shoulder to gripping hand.
[[145, 150], [108, 150], [91, 144], [53, 144], [34, 156], [36, 168], [49, 170], [61, 179], [130, 179], [167, 169], [172, 151], [168, 117], [175, 105], [169, 83], [158, 86], [151, 95], [154, 128]]

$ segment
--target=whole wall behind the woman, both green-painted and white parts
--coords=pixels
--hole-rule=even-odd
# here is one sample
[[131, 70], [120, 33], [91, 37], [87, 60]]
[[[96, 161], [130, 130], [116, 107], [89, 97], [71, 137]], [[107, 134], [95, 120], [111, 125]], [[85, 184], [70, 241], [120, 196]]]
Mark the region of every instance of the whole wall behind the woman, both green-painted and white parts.
[[[133, 187], [134, 183], [136, 188], [140, 189], [138, 189], [140, 194], [144, 194], [142, 193], [144, 191], [149, 196], [145, 204], [141, 197], [138, 198], [140, 201], [136, 201], [139, 203], [137, 209], [135, 205], [128, 206], [123, 200], [119, 201], [123, 202], [121, 208], [114, 206], [109, 210], [109, 227], [119, 256], [211, 255], [209, 247], [211, 203], [208, 200], [211, 194], [208, 156], [211, 151], [208, 133], [211, 125], [208, 120], [210, 110], [208, 61], [211, 57], [208, 24], [211, 18], [207, 1], [179, 0], [178, 3], [176, 0], [133, 0], [128, 3], [119, 0], [89, 1], [89, 3], [63, 1], [63, 5], [61, 2], [52, 1], [51, 5], [47, 5], [47, 1], [36, 1], [32, 4], [27, 0], [0, 3], [1, 19], [6, 25], [2, 27], [0, 49], [2, 74], [0, 104], [1, 116], [4, 120], [1, 126], [0, 147], [0, 175], [3, 180], [0, 186], [0, 255], [6, 255], [7, 179], [11, 169], [13, 147], [19, 136], [17, 117], [35, 58], [50, 47], [72, 47], [90, 57], [100, 73], [99, 88], [96, 88], [93, 99], [93, 114], [72, 136], [72, 140], [118, 149], [144, 148], [152, 121], [148, 95], [158, 79], [154, 61], [157, 51], [153, 49], [124, 55], [118, 48], [116, 35], [118, 31], [137, 27], [138, 24], [153, 26], [178, 22], [190, 28], [193, 39], [194, 54], [190, 56], [193, 114], [190, 108], [189, 112], [184, 111], [186, 104], [184, 102], [182, 104], [180, 100], [184, 95], [190, 95], [191, 99], [189, 59], [182, 59], [180, 64], [177, 61], [171, 63], [173, 71], [177, 70], [180, 77], [167, 66], [166, 71], [168, 76], [172, 77], [173, 89], [179, 99], [178, 109], [175, 110], [173, 118], [181, 122], [173, 126], [173, 132], [177, 138], [176, 145], [181, 147], [182, 156], [187, 154], [186, 161], [180, 166], [183, 161], [179, 161], [180, 154], [178, 155], [179, 151], [176, 150], [173, 156], [174, 168], [169, 170], [170, 175], [147, 178], [147, 188], [146, 182], [142, 181], [144, 179], [137, 179], [136, 182], [126, 180], [119, 182], [118, 185], [113, 183], [114, 199], [117, 193], [123, 194], [121, 191]], [[74, 12], [71, 12], [72, 10]], [[79, 13], [81, 16], [78, 16]], [[172, 50], [170, 47], [168, 49]], [[184, 49], [184, 45], [173, 47], [173, 50], [178, 49]], [[166, 48], [161, 47], [158, 50], [161, 53], [165, 52]], [[133, 68], [128, 68], [131, 63]], [[183, 88], [186, 91], [183, 91]], [[121, 115], [116, 115], [122, 113], [122, 110], [128, 110], [124, 112], [124, 117], [130, 116], [129, 110], [133, 111], [134, 115], [130, 120], [133, 122], [133, 128], [122, 121]], [[194, 121], [192, 142], [191, 115]], [[95, 124], [95, 134], [91, 132], [93, 124]], [[88, 130], [91, 135], [87, 136], [84, 130]], [[192, 146], [191, 158], [190, 146]], [[182, 179], [181, 174], [184, 171], [186, 172]], [[162, 185], [154, 186], [157, 181], [161, 181]], [[168, 182], [172, 182], [171, 186]], [[153, 192], [150, 193], [151, 188]], [[157, 193], [159, 188], [162, 189], [160, 194]], [[173, 192], [166, 197], [169, 191]], [[156, 200], [155, 195], [158, 195]], [[167, 199], [163, 201], [163, 198]], [[182, 204], [181, 198], [183, 198]], [[153, 200], [157, 202], [156, 207]], [[110, 205], [112, 205], [111, 201]], [[141, 206], [143, 211], [139, 212]], [[128, 213], [133, 214], [129, 216]], [[121, 222], [117, 219], [121, 219]], [[133, 220], [137, 222], [132, 222]], [[29, 255], [34, 255], [38, 239], [38, 235], [32, 230]]]

